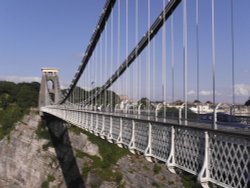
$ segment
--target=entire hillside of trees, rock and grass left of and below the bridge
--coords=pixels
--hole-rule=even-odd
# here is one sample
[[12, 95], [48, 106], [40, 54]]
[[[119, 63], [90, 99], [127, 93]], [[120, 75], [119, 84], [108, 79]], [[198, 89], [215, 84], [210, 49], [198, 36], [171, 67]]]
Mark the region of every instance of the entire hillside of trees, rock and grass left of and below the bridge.
[[194, 187], [106, 140], [39, 116], [39, 83], [0, 82], [0, 187]]

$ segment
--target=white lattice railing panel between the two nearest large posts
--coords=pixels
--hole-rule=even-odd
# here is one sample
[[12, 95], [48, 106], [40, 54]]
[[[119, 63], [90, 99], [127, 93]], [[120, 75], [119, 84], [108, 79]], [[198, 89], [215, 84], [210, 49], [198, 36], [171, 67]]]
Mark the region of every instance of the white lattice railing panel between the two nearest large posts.
[[191, 128], [175, 129], [175, 163], [198, 174], [204, 159], [205, 136]]

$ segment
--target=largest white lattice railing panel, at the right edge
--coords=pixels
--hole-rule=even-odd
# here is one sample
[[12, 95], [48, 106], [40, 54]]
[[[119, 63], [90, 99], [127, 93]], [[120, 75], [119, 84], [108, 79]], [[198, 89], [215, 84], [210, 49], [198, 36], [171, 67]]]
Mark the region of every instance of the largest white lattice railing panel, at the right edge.
[[250, 187], [250, 138], [209, 134], [210, 177], [232, 187]]

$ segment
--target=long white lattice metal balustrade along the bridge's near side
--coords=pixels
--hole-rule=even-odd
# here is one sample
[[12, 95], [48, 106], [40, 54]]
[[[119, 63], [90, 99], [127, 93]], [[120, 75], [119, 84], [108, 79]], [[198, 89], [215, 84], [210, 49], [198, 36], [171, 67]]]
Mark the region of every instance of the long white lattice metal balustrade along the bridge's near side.
[[90, 131], [147, 160], [165, 162], [197, 175], [203, 187], [250, 187], [250, 136], [207, 128], [163, 123], [111, 113], [42, 107], [41, 111]]

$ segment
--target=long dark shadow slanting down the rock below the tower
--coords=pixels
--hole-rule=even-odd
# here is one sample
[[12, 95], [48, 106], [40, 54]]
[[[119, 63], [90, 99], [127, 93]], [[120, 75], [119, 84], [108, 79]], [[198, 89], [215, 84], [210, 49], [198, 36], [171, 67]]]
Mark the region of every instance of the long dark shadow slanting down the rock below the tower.
[[66, 186], [68, 188], [84, 188], [85, 183], [73, 153], [67, 124], [49, 115], [44, 116], [44, 120], [46, 121]]

